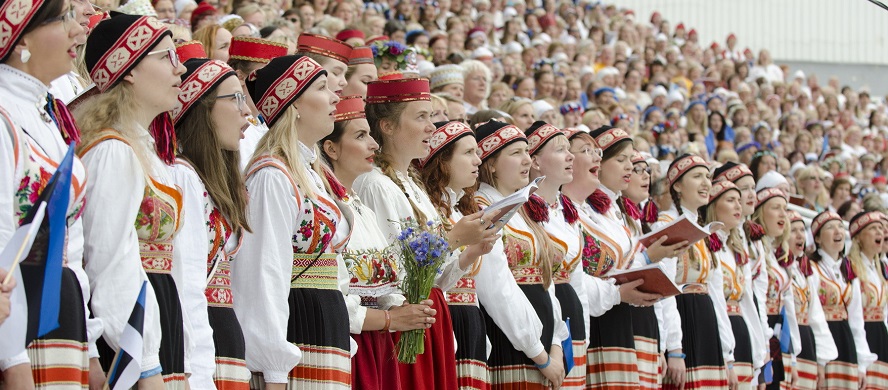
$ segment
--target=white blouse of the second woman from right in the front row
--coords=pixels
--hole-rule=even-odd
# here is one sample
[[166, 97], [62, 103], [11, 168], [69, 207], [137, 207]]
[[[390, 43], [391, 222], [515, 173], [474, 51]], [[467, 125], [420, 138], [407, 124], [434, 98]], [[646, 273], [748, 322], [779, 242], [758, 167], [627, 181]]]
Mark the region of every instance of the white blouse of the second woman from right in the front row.
[[[835, 283], [840, 289], [844, 290], [848, 286], [848, 283], [845, 281], [845, 278], [842, 277], [842, 262], [832, 258], [832, 256], [824, 252], [822, 249], [818, 250], [818, 252], [821, 255], [821, 260], [812, 264], [817, 268], [815, 268], [811, 277], [808, 278], [809, 282], [814, 288], [819, 289], [821, 277], [818, 272], [819, 270], [829, 281]], [[866, 375], [866, 369], [878, 359], [878, 356], [870, 352], [869, 343], [866, 341], [866, 330], [863, 327], [862, 301], [860, 295], [860, 279], [855, 278], [851, 281], [851, 297], [845, 302], [845, 307], [848, 312], [848, 325], [851, 327], [851, 335], [854, 338], [854, 347], [857, 350], [857, 370], [861, 375]]]

